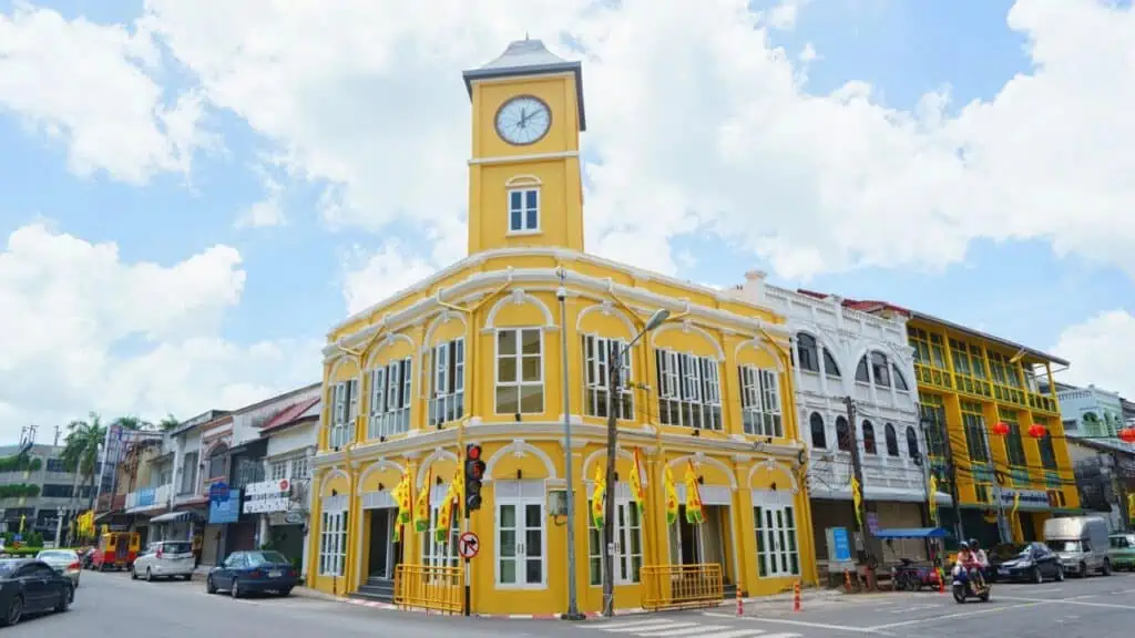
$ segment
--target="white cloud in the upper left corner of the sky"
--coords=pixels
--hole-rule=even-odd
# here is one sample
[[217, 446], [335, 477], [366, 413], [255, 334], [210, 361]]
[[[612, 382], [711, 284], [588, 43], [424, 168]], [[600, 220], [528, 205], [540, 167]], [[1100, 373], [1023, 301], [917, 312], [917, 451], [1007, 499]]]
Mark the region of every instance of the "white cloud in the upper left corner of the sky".
[[166, 103], [152, 74], [161, 56], [150, 34], [17, 0], [0, 12], [0, 112], [67, 145], [79, 175], [106, 170], [141, 184], [157, 173], [188, 173], [209, 140], [192, 92]]

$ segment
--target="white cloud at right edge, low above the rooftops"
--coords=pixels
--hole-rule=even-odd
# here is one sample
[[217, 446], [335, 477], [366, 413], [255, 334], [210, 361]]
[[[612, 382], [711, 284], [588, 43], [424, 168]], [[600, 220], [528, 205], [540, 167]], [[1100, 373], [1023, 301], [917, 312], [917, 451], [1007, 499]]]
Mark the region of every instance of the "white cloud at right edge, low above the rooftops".
[[1135, 398], [1135, 368], [1129, 344], [1135, 343], [1135, 316], [1126, 310], [1110, 310], [1066, 328], [1052, 353], [1071, 366], [1057, 379], [1063, 383], [1096, 386]]

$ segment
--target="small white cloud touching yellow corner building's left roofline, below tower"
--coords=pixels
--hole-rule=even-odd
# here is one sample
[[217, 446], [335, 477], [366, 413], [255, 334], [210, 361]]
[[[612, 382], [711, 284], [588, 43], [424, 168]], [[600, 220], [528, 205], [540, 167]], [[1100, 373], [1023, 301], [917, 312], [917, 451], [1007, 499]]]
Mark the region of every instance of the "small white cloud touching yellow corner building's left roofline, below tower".
[[344, 266], [347, 314], [365, 310], [437, 271], [428, 261], [409, 254], [397, 241], [386, 242], [369, 255], [356, 249]]

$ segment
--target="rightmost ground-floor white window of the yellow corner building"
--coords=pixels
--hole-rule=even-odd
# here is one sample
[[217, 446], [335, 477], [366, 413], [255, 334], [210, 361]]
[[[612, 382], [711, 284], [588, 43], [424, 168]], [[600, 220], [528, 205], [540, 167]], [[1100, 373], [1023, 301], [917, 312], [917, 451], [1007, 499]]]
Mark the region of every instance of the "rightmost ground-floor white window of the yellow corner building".
[[[770, 513], [773, 514], [771, 527]], [[801, 565], [798, 515], [796, 500], [791, 494], [755, 490], [753, 534], [757, 543], [758, 578], [799, 578]]]

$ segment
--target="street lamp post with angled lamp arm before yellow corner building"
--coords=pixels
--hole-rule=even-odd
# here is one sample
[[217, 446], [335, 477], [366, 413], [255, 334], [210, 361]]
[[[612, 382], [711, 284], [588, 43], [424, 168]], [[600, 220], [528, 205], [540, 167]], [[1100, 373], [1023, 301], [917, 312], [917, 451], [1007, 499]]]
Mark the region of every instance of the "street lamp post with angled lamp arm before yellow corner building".
[[615, 448], [619, 444], [619, 417], [615, 414], [615, 396], [621, 388], [620, 371], [623, 354], [640, 339], [642, 335], [663, 325], [670, 318], [670, 311], [662, 308], [647, 319], [646, 325], [625, 346], [620, 347], [611, 342], [607, 351], [607, 481], [603, 496], [603, 615], [615, 615]]

